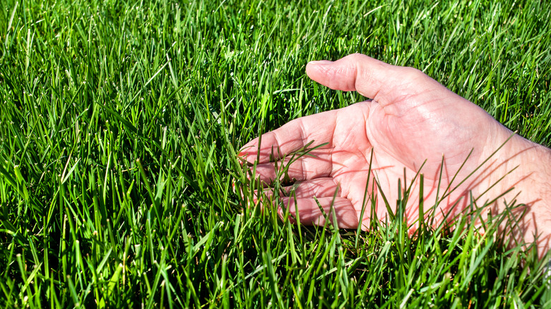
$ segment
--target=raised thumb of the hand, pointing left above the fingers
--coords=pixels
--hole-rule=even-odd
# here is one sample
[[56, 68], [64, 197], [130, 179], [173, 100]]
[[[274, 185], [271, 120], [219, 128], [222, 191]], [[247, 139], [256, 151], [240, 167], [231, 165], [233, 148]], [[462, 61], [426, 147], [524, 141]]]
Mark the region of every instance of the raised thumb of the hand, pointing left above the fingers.
[[311, 61], [309, 78], [334, 90], [357, 91], [380, 104], [389, 102], [391, 88], [398, 85], [402, 67], [392, 66], [363, 54], [351, 54], [337, 61]]

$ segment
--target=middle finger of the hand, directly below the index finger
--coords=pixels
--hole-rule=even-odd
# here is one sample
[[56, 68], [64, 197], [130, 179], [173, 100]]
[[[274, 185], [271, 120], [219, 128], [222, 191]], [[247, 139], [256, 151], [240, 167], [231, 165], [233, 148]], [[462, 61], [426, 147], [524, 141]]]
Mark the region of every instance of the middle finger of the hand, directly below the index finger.
[[278, 174], [281, 181], [285, 176], [291, 181], [305, 181], [329, 176], [331, 169], [331, 153], [328, 150], [313, 150], [309, 155], [298, 158], [289, 155], [283, 161], [256, 164], [255, 176], [267, 184], [272, 183]]

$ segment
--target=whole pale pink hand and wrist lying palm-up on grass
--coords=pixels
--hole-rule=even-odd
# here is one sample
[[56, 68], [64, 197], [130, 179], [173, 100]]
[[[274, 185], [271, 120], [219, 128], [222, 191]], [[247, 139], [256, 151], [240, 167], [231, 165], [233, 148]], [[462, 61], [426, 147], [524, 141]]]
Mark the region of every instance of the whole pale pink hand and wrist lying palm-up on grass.
[[405, 183], [409, 186], [413, 181], [405, 210], [413, 231], [420, 193], [420, 178], [414, 176], [420, 172], [424, 204], [434, 205], [437, 193], [441, 200], [434, 224], [442, 222], [444, 214], [453, 218], [468, 207], [471, 194], [478, 207], [497, 199], [487, 207], [492, 214], [504, 212], [511, 202], [522, 203], [526, 206], [519, 210], [526, 214], [514, 213], [519, 224], [502, 224], [502, 229], [513, 230], [506, 241], [535, 242], [540, 257], [549, 250], [551, 150], [515, 135], [486, 111], [415, 68], [352, 54], [334, 62], [312, 61], [306, 72], [331, 89], [356, 91], [370, 99], [295, 119], [263, 134], [261, 145], [256, 138], [242, 147], [239, 155], [247, 162], [259, 158], [256, 177], [268, 185], [276, 175], [274, 159], [283, 159], [280, 166], [307, 143], [326, 143], [312, 151], [313, 156], [289, 166], [290, 178], [299, 182], [292, 197], [283, 197], [292, 217], [298, 211], [302, 224], [324, 225], [319, 202], [327, 213], [333, 205], [338, 227], [367, 229], [370, 211], [361, 215], [365, 200], [371, 207], [369, 201], [374, 199], [379, 220], [384, 221], [387, 214], [374, 179], [395, 207], [398, 179], [404, 183], [405, 173]]

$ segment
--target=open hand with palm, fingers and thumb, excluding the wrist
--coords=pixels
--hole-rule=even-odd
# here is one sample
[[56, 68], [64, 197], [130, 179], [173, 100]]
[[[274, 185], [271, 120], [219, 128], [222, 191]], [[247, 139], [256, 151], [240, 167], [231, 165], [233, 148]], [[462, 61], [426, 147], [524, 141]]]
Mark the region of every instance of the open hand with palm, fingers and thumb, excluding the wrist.
[[[362, 74], [355, 70], [307, 68], [312, 79], [328, 87], [357, 90], [373, 100], [291, 121], [263, 135], [260, 147], [259, 140], [249, 142], [242, 154], [249, 162], [259, 156], [257, 175], [269, 183], [276, 177], [274, 164], [270, 162], [274, 159], [271, 157], [274, 147], [280, 154], [275, 159], [283, 159], [285, 163], [289, 154], [308, 142], [326, 144], [312, 151], [312, 156], [301, 157], [288, 166], [289, 176], [302, 183], [295, 197], [284, 201], [291, 212], [299, 211], [304, 223], [324, 224], [319, 204], [326, 211], [334, 207], [340, 227], [353, 228], [362, 222], [366, 228], [369, 210], [360, 217], [365, 201], [369, 207], [369, 200], [375, 200], [377, 216], [384, 218], [386, 207], [378, 195], [384, 193], [393, 205], [399, 194], [398, 179], [407, 186], [413, 180], [406, 210], [408, 221], [413, 222], [420, 192], [419, 178], [414, 176], [420, 167], [423, 166], [421, 172], [425, 175], [423, 199], [434, 204], [437, 192], [442, 197], [454, 176], [456, 180], [451, 187], [480, 164], [487, 155], [488, 139], [502, 137], [497, 138], [492, 132], [502, 131], [485, 125], [497, 123], [485, 111], [418, 71], [385, 67], [384, 73], [389, 76], [383, 84], [378, 80], [358, 80], [357, 75]], [[453, 205], [476, 181], [480, 179], [463, 183], [442, 206]]]

